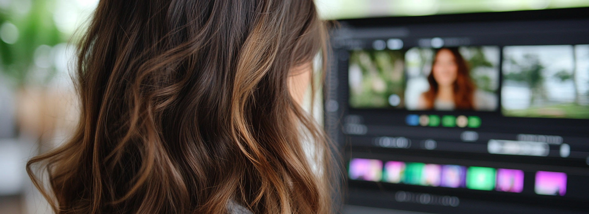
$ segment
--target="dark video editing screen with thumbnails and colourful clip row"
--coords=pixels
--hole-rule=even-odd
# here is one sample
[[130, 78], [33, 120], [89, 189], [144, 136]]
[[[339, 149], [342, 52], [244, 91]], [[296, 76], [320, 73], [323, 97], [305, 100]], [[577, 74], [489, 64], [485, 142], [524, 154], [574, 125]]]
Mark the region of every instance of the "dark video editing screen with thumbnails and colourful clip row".
[[340, 21], [325, 108], [345, 203], [589, 212], [587, 14]]

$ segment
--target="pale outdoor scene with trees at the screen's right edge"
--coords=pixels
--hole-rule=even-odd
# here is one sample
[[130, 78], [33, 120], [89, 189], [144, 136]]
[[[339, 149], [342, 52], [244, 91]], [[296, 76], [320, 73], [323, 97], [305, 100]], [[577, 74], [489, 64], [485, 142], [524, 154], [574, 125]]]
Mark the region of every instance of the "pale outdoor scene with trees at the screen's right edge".
[[502, 113], [589, 118], [589, 45], [505, 46]]

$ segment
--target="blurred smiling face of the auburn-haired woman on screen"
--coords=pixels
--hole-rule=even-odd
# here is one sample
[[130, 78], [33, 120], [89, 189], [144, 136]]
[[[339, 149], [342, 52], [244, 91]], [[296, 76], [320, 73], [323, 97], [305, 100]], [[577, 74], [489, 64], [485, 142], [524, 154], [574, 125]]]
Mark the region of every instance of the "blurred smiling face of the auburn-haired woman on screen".
[[442, 49], [438, 52], [434, 59], [432, 72], [439, 86], [450, 86], [454, 84], [458, 75], [458, 65], [456, 65], [456, 59], [451, 51]]

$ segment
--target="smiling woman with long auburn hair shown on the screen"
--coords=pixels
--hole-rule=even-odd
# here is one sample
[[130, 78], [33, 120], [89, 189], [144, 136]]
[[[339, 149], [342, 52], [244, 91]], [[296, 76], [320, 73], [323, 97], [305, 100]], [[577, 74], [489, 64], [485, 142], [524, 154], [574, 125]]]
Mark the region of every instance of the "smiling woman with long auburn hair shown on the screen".
[[422, 110], [474, 110], [475, 85], [458, 48], [438, 49], [428, 76], [429, 90], [419, 97]]

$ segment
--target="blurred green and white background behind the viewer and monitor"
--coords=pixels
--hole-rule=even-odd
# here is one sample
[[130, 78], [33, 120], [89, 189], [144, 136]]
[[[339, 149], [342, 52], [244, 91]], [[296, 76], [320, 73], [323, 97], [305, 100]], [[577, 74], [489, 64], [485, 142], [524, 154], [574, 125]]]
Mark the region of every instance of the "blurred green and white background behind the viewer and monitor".
[[[0, 0], [0, 213], [50, 213], [26, 161], [77, 119], [75, 42], [98, 0]], [[316, 0], [324, 19], [589, 6], [586, 0]]]

